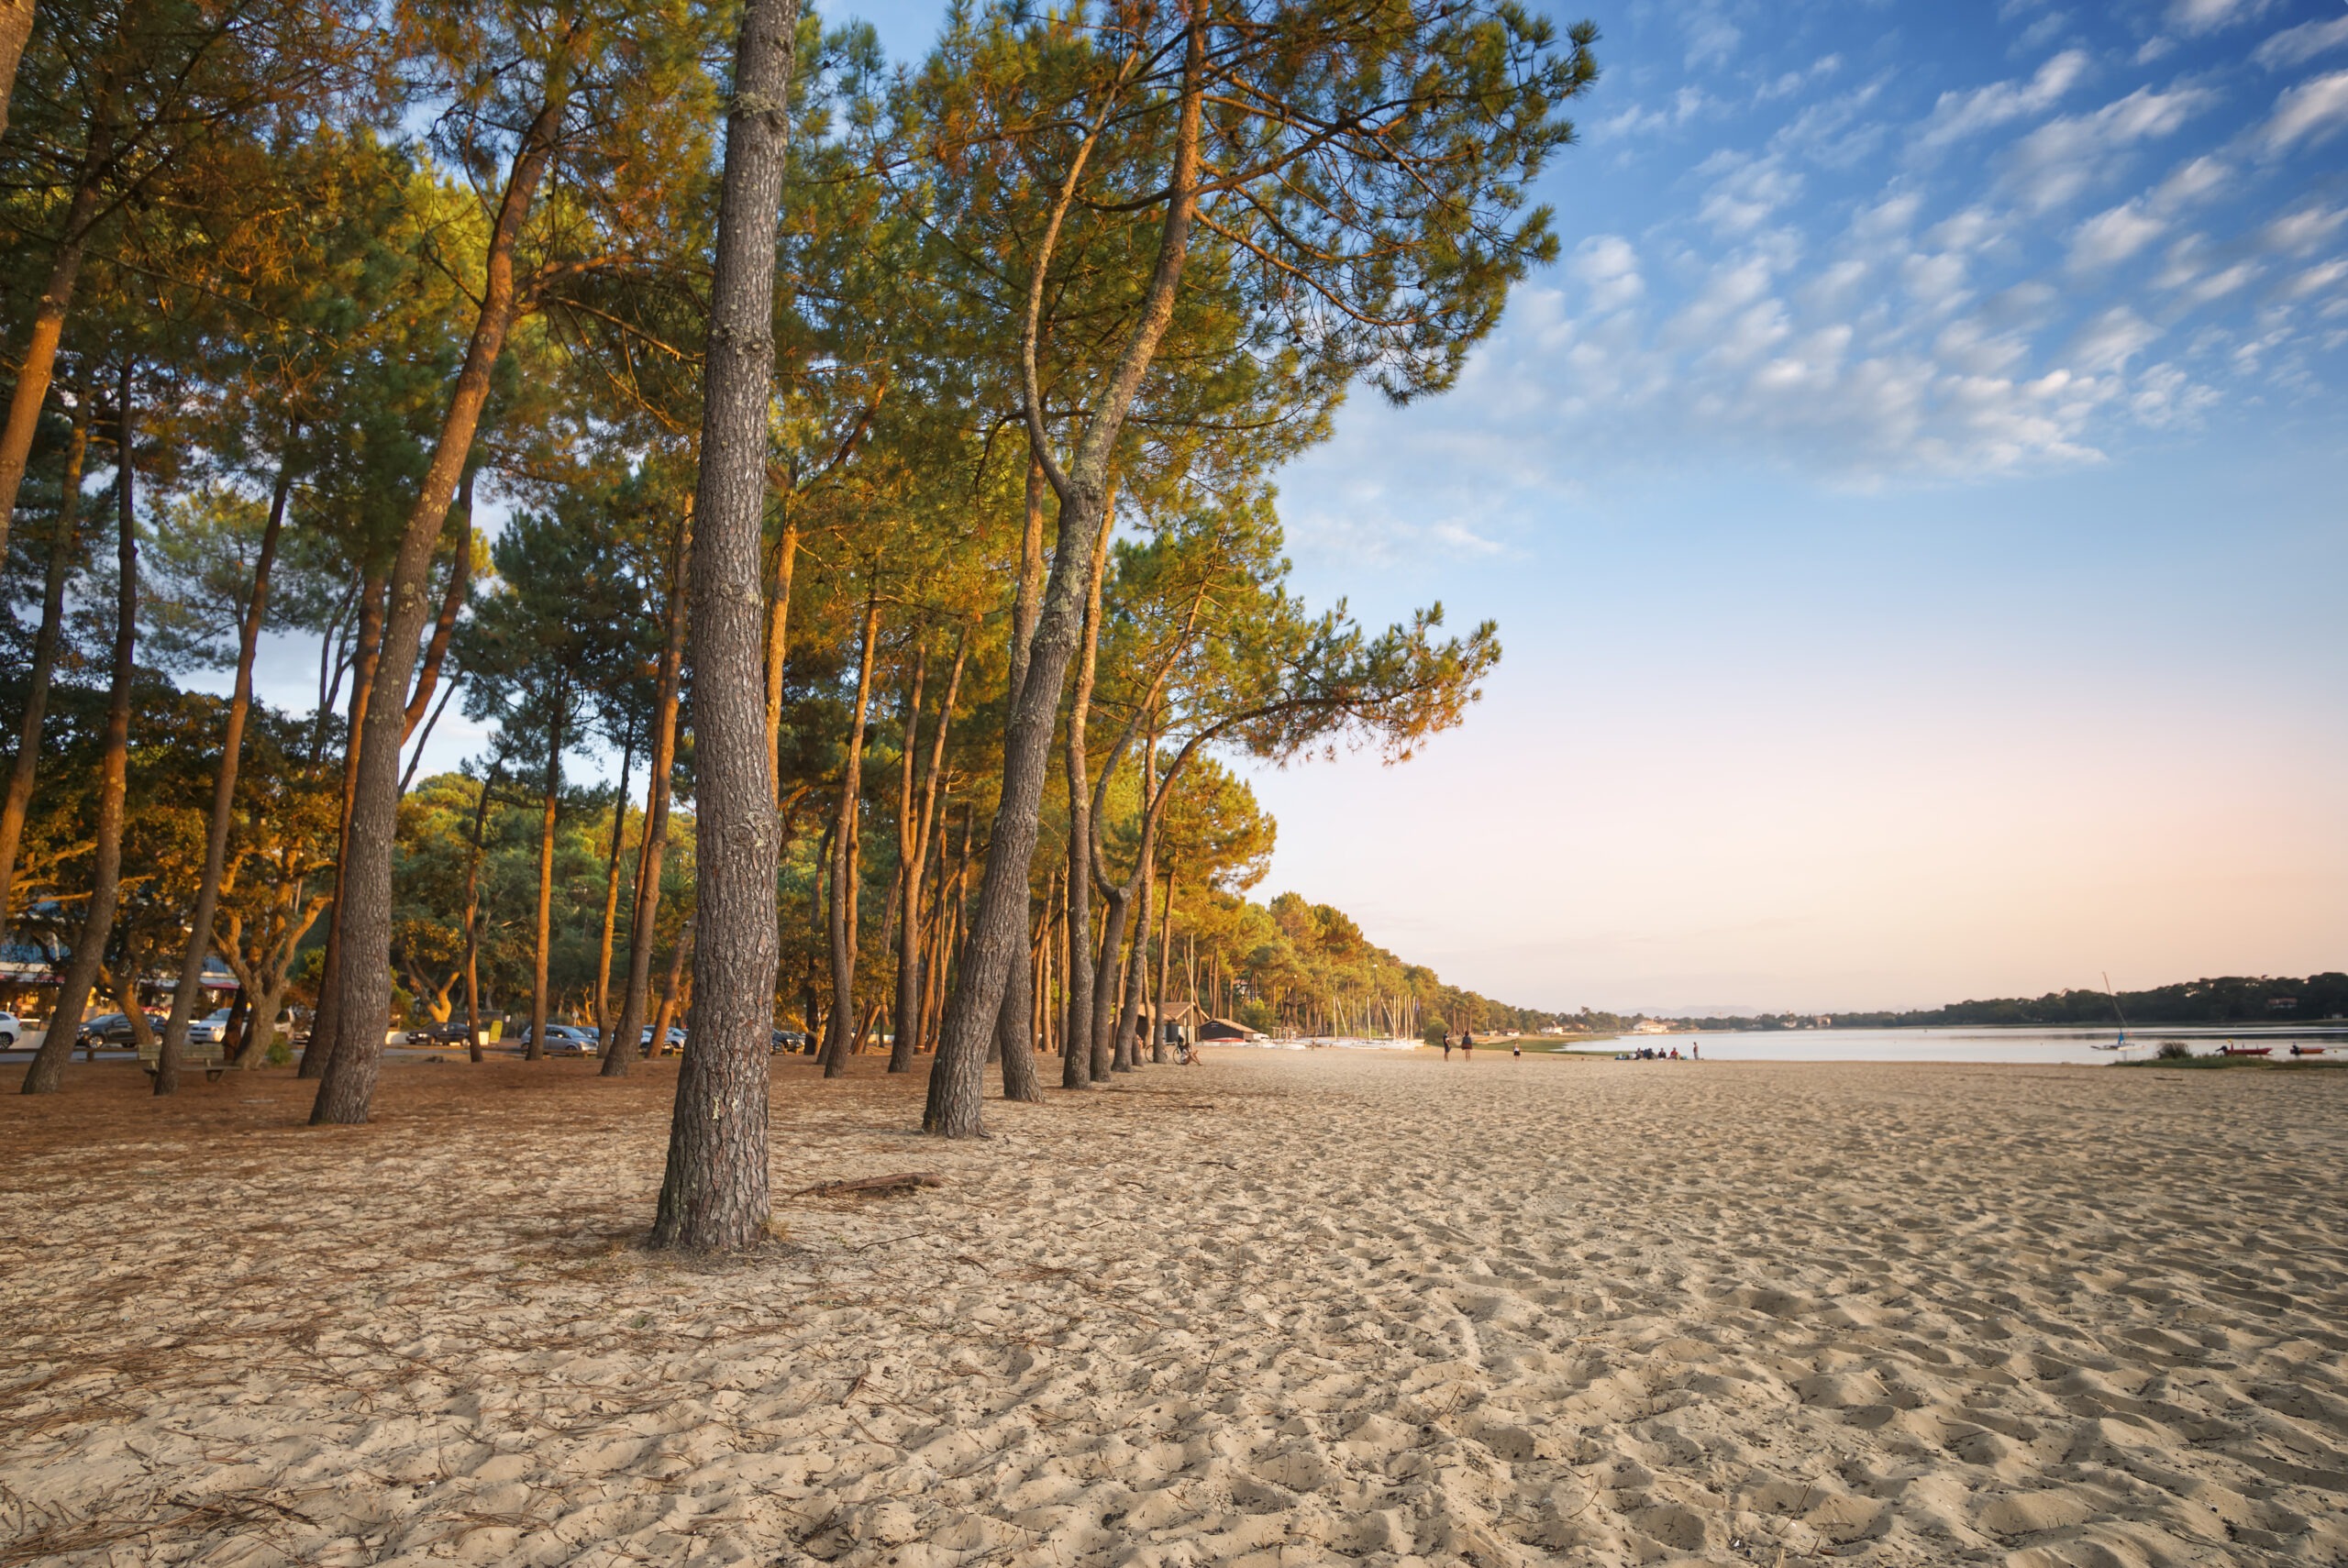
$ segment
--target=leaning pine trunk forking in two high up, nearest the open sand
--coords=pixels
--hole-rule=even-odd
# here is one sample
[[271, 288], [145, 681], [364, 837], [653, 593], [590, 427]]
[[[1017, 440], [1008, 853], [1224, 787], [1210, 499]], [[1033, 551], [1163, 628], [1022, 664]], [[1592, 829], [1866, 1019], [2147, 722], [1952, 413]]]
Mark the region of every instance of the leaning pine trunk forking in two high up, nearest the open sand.
[[[1059, 495], [1059, 549], [1052, 556], [1052, 582], [1045, 589], [1043, 615], [1028, 653], [1019, 704], [1003, 735], [1003, 803], [996, 831], [986, 843], [986, 880], [979, 887], [979, 913], [963, 960], [960, 984], [946, 1005], [946, 1028], [930, 1073], [930, 1099], [923, 1129], [949, 1138], [977, 1138], [984, 1131], [979, 1082], [986, 1070], [986, 1035], [1003, 1007], [1003, 988], [1026, 948], [1028, 866], [1035, 854], [1035, 815], [1043, 805], [1045, 761], [1059, 716], [1059, 690], [1068, 674], [1080, 634], [1078, 584], [1092, 573], [1094, 535], [1108, 512], [1108, 465], [1115, 455], [1125, 413], [1132, 408], [1141, 378], [1158, 354], [1158, 343], [1174, 319], [1174, 293], [1181, 284], [1183, 256], [1190, 244], [1190, 214], [1197, 204], [1200, 127], [1205, 113], [1207, 21], [1205, 7], [1193, 9], [1183, 42], [1181, 120], [1174, 134], [1174, 167], [1165, 225], [1158, 235], [1158, 268], [1151, 275], [1141, 317], [1118, 357], [1097, 406], [1078, 439], [1075, 462], [1061, 472], [1045, 451], [1045, 406], [1035, 371], [1035, 340], [1043, 296], [1052, 268], [1059, 223], [1075, 200], [1082, 162], [1071, 164], [1054, 200], [1050, 230], [1028, 275], [1028, 307], [1021, 326], [1021, 401], [1028, 439], [1043, 458], [1045, 479]], [[1106, 124], [1104, 108], [1097, 124]], [[1089, 138], [1087, 138], [1089, 150]]]

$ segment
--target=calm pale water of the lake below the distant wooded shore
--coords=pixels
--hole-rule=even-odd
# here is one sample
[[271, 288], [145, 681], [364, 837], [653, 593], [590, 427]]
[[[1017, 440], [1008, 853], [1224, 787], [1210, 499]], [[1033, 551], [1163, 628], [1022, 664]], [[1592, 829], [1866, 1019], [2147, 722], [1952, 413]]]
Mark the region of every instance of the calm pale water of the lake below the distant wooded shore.
[[1705, 1047], [1709, 1061], [2015, 1061], [2080, 1063], [2144, 1061], [2163, 1040], [2184, 1040], [2195, 1056], [2214, 1054], [2228, 1040], [2235, 1045], [2271, 1045], [2289, 1061], [2292, 1045], [2325, 1045], [2327, 1056], [2348, 1059], [2348, 1026], [2313, 1028], [2144, 1028], [2127, 1030], [2125, 1052], [2099, 1052], [2116, 1028], [1770, 1028], [1752, 1033], [1702, 1035], [1625, 1035], [1615, 1049], [1641, 1045], [1686, 1056], [1691, 1045]]

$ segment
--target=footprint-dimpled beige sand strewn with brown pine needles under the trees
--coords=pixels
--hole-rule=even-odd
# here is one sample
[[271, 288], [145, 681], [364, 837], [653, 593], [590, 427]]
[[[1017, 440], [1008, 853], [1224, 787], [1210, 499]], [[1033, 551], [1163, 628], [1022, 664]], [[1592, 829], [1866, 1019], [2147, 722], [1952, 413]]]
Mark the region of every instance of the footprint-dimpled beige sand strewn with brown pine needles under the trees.
[[0, 1563], [2341, 1563], [2348, 1073], [1226, 1052], [0, 1099]]

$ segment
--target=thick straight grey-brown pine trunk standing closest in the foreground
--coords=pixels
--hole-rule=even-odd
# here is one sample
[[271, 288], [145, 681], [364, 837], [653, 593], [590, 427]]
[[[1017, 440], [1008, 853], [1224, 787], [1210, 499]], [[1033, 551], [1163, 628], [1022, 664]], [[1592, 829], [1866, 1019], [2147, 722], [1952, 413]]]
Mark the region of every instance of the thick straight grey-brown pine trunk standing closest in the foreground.
[[726, 120], [709, 347], [702, 530], [693, 556], [700, 857], [693, 1045], [676, 1075], [655, 1246], [744, 1249], [765, 1235], [775, 1028], [777, 812], [758, 690], [758, 519], [775, 380], [775, 232], [789, 143], [796, 0], [747, 0]]

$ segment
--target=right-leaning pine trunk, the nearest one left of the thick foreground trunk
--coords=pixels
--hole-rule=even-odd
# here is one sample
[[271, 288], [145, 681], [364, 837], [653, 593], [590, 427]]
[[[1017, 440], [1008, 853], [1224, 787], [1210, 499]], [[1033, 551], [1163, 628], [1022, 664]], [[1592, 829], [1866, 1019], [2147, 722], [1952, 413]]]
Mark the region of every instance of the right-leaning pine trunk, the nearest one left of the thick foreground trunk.
[[[416, 643], [430, 617], [425, 580], [432, 568], [432, 545], [448, 521], [458, 481], [472, 458], [472, 437], [488, 404], [491, 376], [505, 350], [505, 333], [521, 310], [514, 291], [514, 246], [538, 183], [554, 157], [554, 136], [568, 96], [566, 61], [547, 73], [547, 101], [521, 134], [512, 176], [498, 202], [484, 270], [481, 310], [472, 340], [465, 345], [465, 369], [458, 371], [441, 418], [432, 467], [425, 469], [416, 507], [399, 535], [392, 563], [390, 610], [383, 627], [383, 655], [376, 660], [376, 685], [385, 697], [371, 699], [359, 746], [359, 779], [352, 793], [350, 833], [343, 840], [343, 876], [338, 904], [343, 941], [336, 955], [338, 1016], [333, 1054], [310, 1110], [312, 1124], [364, 1122], [376, 1099], [376, 1073], [383, 1066], [383, 1021], [390, 1014], [392, 953], [392, 840], [399, 829], [399, 746], [409, 678], [416, 674]], [[350, 1049], [345, 1049], [345, 1042]]]

